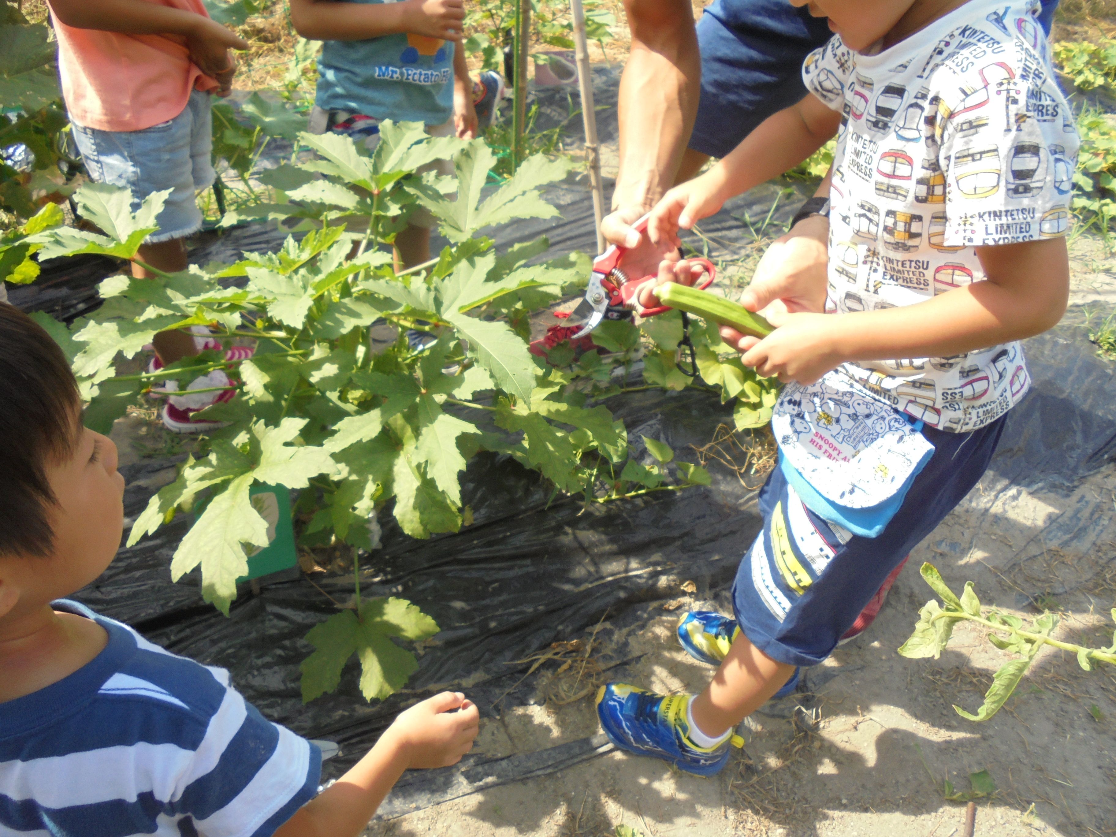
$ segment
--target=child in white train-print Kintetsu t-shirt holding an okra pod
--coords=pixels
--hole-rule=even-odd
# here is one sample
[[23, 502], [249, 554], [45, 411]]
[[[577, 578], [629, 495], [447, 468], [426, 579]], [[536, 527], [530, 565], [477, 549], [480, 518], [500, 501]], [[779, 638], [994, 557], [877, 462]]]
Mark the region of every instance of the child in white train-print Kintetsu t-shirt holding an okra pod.
[[[806, 0], [790, 0], [795, 6]], [[700, 775], [732, 729], [837, 645], [903, 557], [977, 484], [1030, 381], [1018, 340], [1066, 309], [1078, 137], [1035, 0], [811, 0], [836, 36], [810, 95], [653, 210], [653, 241], [790, 169], [837, 134], [826, 312], [786, 287], [764, 339], [722, 328], [787, 386], [763, 530], [733, 585], [735, 618], [687, 614], [683, 646], [719, 665], [698, 695], [610, 683], [620, 748]], [[820, 210], [825, 214], [826, 210]], [[658, 281], [685, 280], [686, 262]], [[657, 305], [648, 282], [644, 305]], [[754, 310], [768, 289], [745, 295]], [[889, 359], [903, 358], [903, 359]]]

